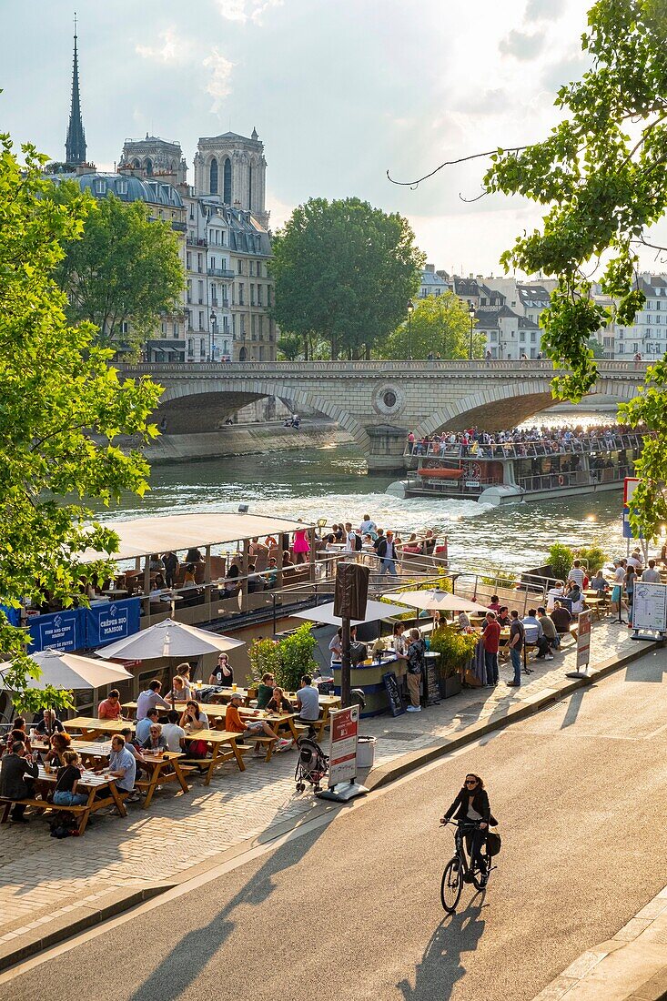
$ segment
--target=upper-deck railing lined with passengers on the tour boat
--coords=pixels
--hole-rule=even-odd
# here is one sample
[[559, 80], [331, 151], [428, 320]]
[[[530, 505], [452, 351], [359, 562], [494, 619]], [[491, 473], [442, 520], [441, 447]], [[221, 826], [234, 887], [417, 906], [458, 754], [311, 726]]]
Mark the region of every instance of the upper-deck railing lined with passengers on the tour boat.
[[570, 441], [494, 441], [488, 444], [473, 442], [446, 443], [430, 441], [425, 448], [421, 441], [406, 445], [404, 456], [412, 458], [539, 458], [545, 455], [571, 455], [573, 453], [609, 452], [621, 448], [641, 448], [645, 434], [609, 434], [595, 437], [572, 438]]

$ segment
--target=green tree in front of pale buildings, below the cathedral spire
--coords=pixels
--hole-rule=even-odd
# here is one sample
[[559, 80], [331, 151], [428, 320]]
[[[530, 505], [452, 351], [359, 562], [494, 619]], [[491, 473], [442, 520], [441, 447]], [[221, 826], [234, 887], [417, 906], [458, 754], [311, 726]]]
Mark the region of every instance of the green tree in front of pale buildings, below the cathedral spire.
[[[56, 278], [69, 299], [71, 322], [90, 320], [99, 340], [136, 349], [154, 331], [160, 314], [173, 311], [183, 289], [178, 240], [168, 222], [150, 219], [143, 201], [86, 194], [80, 239], [66, 244]], [[57, 200], [80, 198], [78, 185], [57, 186]], [[127, 323], [129, 333], [123, 333]]]

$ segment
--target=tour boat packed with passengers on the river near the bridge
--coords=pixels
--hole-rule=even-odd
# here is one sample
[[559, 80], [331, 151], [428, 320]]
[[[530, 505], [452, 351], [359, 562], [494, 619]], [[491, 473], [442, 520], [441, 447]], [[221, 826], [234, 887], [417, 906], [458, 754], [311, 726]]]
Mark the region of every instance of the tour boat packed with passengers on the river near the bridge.
[[416, 442], [406, 451], [416, 467], [387, 487], [399, 497], [442, 496], [498, 507], [575, 493], [619, 489], [644, 443], [640, 433], [573, 437], [570, 441], [470, 445]]

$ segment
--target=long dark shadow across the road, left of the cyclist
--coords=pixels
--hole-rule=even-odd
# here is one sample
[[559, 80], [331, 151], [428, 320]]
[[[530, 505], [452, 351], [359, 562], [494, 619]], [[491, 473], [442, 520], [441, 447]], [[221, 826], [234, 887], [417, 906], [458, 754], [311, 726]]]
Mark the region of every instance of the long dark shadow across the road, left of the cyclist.
[[[134, 991], [129, 1001], [155, 1001], [156, 998], [159, 1001], [175, 1001], [180, 997], [192, 986], [220, 947], [224, 946], [236, 927], [234, 912], [244, 905], [260, 907], [265, 904], [275, 889], [274, 877], [300, 862], [325, 831], [326, 825], [309, 834], [300, 835], [296, 840], [287, 841], [271, 852], [262, 867], [208, 924], [193, 927], [183, 935]], [[233, 873], [229, 875], [230, 878], [233, 877]], [[201, 899], [203, 902], [203, 893]], [[165, 970], [168, 970], [168, 979], [165, 977]]]

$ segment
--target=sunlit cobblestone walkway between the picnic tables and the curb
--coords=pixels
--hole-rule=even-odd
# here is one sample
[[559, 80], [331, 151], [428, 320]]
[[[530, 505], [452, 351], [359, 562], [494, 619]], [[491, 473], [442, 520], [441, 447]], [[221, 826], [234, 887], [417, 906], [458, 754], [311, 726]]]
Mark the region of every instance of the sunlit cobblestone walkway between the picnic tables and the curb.
[[[626, 627], [595, 623], [591, 667], [636, 658], [645, 648], [629, 639]], [[574, 670], [575, 658], [575, 644], [570, 643], [553, 661], [535, 663], [520, 689], [505, 686], [512, 669], [504, 665], [496, 689], [465, 690], [419, 714], [364, 721], [362, 733], [378, 739], [376, 766], [367, 784], [380, 785], [414, 766], [418, 752], [427, 757], [443, 753], [448, 741], [471, 728], [502, 726], [515, 713], [557, 698], [572, 686], [565, 675]], [[235, 765], [223, 766], [210, 786], [192, 780], [182, 796], [173, 786], [160, 789], [150, 813], [140, 804], [128, 807], [124, 819], [100, 812], [82, 839], [50, 839], [41, 819], [3, 826], [0, 968], [10, 957], [15, 962], [17, 950], [30, 949], [36, 938], [48, 939], [56, 930], [62, 933], [76, 922], [95, 920], [95, 915], [98, 919], [99, 912], [122, 907], [128, 897], [159, 892], [219, 864], [225, 853], [240, 852], [253, 839], [270, 838], [324, 809], [311, 794], [295, 793], [295, 751], [277, 755], [269, 764], [251, 755], [245, 762], [242, 774]]]

